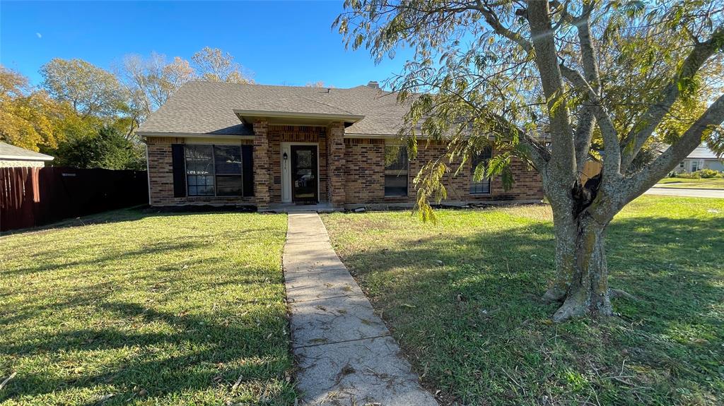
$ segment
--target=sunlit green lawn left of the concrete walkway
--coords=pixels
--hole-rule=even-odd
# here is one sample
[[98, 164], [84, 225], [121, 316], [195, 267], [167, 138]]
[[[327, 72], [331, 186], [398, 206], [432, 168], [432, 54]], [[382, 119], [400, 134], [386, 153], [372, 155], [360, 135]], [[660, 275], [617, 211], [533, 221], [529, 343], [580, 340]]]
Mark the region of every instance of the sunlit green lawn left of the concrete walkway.
[[285, 216], [83, 221], [0, 238], [0, 404], [294, 403]]

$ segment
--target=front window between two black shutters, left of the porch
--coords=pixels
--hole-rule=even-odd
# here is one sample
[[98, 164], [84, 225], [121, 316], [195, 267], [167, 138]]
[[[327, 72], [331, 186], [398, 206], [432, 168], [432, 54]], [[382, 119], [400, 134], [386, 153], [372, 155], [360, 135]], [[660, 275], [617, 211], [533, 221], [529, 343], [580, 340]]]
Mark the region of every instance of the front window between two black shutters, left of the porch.
[[186, 145], [188, 196], [241, 196], [241, 147]]

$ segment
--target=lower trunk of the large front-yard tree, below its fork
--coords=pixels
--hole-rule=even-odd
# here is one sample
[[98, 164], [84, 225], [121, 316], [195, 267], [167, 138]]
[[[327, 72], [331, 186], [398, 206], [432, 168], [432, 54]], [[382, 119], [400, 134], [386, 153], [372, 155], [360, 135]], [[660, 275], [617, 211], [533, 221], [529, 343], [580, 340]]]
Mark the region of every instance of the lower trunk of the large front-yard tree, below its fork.
[[556, 277], [544, 295], [563, 304], [553, 315], [560, 322], [577, 316], [613, 314], [604, 248], [605, 224], [587, 212], [555, 221]]

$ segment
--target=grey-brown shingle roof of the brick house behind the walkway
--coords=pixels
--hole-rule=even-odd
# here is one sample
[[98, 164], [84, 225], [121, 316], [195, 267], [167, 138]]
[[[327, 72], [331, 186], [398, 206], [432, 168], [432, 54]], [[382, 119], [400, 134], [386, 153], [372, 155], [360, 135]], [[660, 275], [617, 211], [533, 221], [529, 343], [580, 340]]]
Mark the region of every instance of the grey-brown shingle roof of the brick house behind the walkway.
[[234, 110], [279, 111], [364, 116], [345, 134], [394, 135], [409, 107], [395, 93], [368, 86], [328, 90], [319, 87], [237, 85], [188, 82], [158, 111], [140, 133], [251, 135]]

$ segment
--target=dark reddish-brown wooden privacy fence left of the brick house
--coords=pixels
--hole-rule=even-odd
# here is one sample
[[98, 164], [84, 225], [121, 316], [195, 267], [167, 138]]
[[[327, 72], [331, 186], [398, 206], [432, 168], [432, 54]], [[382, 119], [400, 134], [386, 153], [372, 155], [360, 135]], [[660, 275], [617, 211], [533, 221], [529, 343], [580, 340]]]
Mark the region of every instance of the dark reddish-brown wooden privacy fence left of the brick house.
[[144, 203], [145, 170], [0, 168], [0, 231]]

